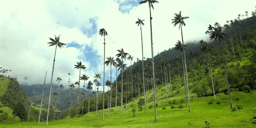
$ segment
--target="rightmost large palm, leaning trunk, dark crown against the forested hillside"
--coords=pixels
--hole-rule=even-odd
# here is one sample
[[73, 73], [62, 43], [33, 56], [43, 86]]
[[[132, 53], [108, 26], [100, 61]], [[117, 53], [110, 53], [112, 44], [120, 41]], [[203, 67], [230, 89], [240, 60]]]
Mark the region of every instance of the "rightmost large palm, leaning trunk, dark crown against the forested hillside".
[[[221, 28], [218, 28], [218, 29], [215, 29], [214, 32], [211, 33], [210, 38], [212, 38], [212, 39], [214, 38], [215, 41], [216, 41], [216, 39], [219, 39], [219, 41], [221, 42], [221, 39], [224, 39], [224, 38], [223, 38], [223, 35], [226, 35], [226, 34], [223, 33], [223, 32], [221, 32]], [[221, 45], [222, 45], [223, 54], [224, 54], [224, 47], [223, 47], [222, 42], [221, 42]], [[230, 96], [230, 87], [229, 87], [229, 83], [228, 83], [228, 79], [227, 79], [226, 68], [225, 68], [225, 66], [224, 66], [224, 59], [223, 59], [223, 56], [224, 56], [224, 55], [222, 55], [222, 61], [223, 61], [223, 67], [224, 67], [224, 72], [225, 72], [225, 77], [226, 77], [227, 90], [228, 90], [229, 99], [230, 99], [230, 107], [233, 108], [232, 100], [231, 100], [231, 96]]]

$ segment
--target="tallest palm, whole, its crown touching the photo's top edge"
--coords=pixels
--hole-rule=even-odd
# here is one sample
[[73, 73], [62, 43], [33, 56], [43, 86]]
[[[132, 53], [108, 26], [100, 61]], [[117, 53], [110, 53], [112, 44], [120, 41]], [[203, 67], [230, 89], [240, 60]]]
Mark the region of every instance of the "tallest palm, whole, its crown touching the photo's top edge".
[[[154, 50], [153, 50], [153, 35], [152, 35], [152, 17], [151, 17], [151, 7], [154, 9], [153, 3], [159, 3], [157, 0], [143, 0], [139, 4], [147, 3], [149, 6], [149, 18], [150, 18], [150, 32], [151, 32], [151, 55], [152, 55], [152, 70], [154, 74]], [[153, 80], [155, 81], [154, 77]], [[155, 84], [154, 84], [154, 111], [155, 111], [155, 121], [157, 121], [157, 108], [156, 108], [156, 101], [155, 101], [155, 96], [156, 95], [156, 90], [155, 90]]]

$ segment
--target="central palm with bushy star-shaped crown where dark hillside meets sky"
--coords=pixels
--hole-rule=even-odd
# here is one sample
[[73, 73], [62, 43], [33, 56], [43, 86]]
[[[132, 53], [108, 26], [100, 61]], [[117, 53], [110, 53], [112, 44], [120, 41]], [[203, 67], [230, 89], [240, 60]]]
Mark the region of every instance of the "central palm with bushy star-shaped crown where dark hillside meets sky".
[[[129, 55], [128, 53], [124, 52], [124, 49], [122, 48], [121, 50], [117, 50], [119, 53], [116, 54], [117, 57], [121, 57], [122, 58], [122, 61], [120, 63], [120, 66], [122, 67], [122, 92], [121, 92], [121, 112], [122, 112], [122, 117], [123, 117], [123, 111], [122, 111], [122, 105], [123, 105], [123, 102], [122, 102], [122, 99], [123, 99], [123, 59], [126, 60], [126, 56]], [[126, 64], [125, 64], [126, 65]], [[119, 67], [120, 68], [120, 67]]]

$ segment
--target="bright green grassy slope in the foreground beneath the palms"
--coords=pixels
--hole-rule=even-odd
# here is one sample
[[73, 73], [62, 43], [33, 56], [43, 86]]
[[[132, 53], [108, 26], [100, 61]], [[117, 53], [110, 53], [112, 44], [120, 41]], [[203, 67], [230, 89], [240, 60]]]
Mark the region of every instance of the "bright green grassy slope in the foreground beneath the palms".
[[[157, 103], [161, 106], [157, 107], [157, 121], [154, 121], [154, 107], [149, 108], [147, 106], [147, 112], [136, 111], [136, 116], [133, 117], [131, 107], [129, 110], [125, 109], [123, 118], [121, 118], [120, 107], [117, 109], [117, 113], [112, 112], [109, 115], [107, 109], [105, 109], [104, 121], [102, 121], [102, 110], [99, 110], [97, 116], [94, 112], [90, 112], [90, 116], [85, 114], [83, 117], [72, 119], [61, 119], [57, 121], [49, 121], [49, 128], [205, 128], [204, 121], [211, 122], [211, 128], [219, 127], [251, 127], [255, 128], [256, 123], [253, 122], [253, 116], [256, 113], [256, 91], [252, 93], [244, 92], [232, 92], [233, 106], [236, 106], [236, 102], [240, 102], [244, 106], [242, 110], [231, 111], [228, 95], [223, 93], [216, 94], [216, 100], [220, 100], [221, 104], [209, 104], [209, 100], [213, 99], [212, 96], [208, 97], [190, 97], [191, 100], [191, 112], [188, 112], [186, 103], [183, 103], [184, 108], [171, 109], [166, 99], [161, 99]], [[239, 97], [239, 100], [236, 101]], [[178, 99], [179, 97], [174, 97]], [[172, 100], [173, 98], [169, 98]], [[162, 103], [163, 102], [163, 103]], [[178, 100], [179, 102], [179, 100]], [[150, 103], [149, 103], [150, 104]], [[166, 109], [162, 109], [162, 106]], [[175, 105], [177, 107], [177, 104]], [[115, 107], [113, 107], [115, 111]], [[137, 109], [138, 110], [138, 109]], [[20, 124], [20, 127], [19, 127]], [[41, 122], [39, 125], [37, 122], [9, 122], [2, 123], [0, 127], [5, 128], [27, 128], [27, 127], [45, 127], [46, 122]]]

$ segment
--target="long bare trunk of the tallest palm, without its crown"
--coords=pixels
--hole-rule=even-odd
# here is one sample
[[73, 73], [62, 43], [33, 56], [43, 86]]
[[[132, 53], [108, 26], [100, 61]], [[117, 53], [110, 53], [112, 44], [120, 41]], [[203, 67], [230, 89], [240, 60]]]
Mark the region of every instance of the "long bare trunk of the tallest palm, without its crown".
[[[151, 17], [151, 7], [149, 4], [149, 12], [150, 12], [150, 32], [151, 32], [151, 55], [152, 55], [152, 70], [154, 74], [154, 50], [153, 50], [153, 37], [152, 37], [152, 17]], [[153, 81], [155, 81], [153, 77]], [[153, 98], [153, 97], [152, 97]], [[156, 108], [156, 90], [155, 90], [155, 83], [154, 83], [154, 114], [155, 114], [155, 121], [157, 121], [157, 108]]]

